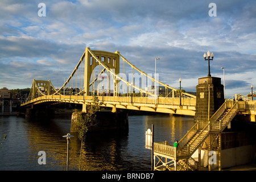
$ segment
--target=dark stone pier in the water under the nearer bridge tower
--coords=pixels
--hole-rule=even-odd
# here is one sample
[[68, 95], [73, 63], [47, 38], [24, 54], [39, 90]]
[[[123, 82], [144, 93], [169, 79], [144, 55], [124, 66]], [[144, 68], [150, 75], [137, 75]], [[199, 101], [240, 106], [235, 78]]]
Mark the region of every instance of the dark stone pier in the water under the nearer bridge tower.
[[[76, 118], [83, 112], [72, 113], [71, 132], [77, 132]], [[112, 113], [108, 111], [99, 111], [96, 113], [96, 126], [90, 127], [90, 131], [128, 131], [128, 113]]]

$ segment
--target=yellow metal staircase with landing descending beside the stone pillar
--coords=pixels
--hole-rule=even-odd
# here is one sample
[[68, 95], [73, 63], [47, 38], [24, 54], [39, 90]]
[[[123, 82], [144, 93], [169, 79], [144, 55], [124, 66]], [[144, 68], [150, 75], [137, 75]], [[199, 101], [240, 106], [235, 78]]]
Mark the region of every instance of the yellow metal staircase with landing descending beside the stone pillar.
[[[187, 162], [183, 162], [183, 164], [188, 167], [189, 160], [192, 159], [191, 156], [209, 137], [210, 133], [222, 132], [237, 113], [238, 102], [225, 101], [216, 113], [212, 115], [209, 121], [195, 123], [187, 134], [180, 139], [180, 146], [178, 149], [170, 146], [170, 144], [164, 146], [161, 142], [154, 143], [154, 154], [159, 156], [162, 155], [175, 162], [179, 162], [179, 160], [187, 160]], [[190, 169], [197, 169], [197, 167], [192, 166]], [[157, 170], [158, 166], [156, 166], [155, 169]]]

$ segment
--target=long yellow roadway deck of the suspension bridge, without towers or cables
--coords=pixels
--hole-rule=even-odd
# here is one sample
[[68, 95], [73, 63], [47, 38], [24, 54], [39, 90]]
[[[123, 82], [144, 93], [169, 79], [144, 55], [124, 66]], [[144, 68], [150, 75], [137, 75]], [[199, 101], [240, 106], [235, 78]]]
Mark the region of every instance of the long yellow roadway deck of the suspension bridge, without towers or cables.
[[[98, 97], [102, 106], [114, 107], [119, 109], [131, 109], [141, 111], [154, 111], [159, 113], [170, 114], [183, 114], [183, 115], [195, 115], [196, 99], [195, 98], [172, 98], [172, 97], [113, 97], [102, 96]], [[103, 100], [102, 100], [103, 99]], [[50, 95], [37, 97], [33, 100], [27, 101], [21, 106], [35, 105], [43, 102], [69, 102], [76, 104], [90, 104], [92, 102], [92, 96], [64, 96], [64, 95]]]

